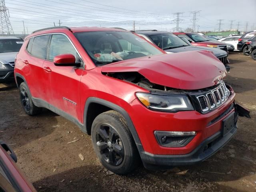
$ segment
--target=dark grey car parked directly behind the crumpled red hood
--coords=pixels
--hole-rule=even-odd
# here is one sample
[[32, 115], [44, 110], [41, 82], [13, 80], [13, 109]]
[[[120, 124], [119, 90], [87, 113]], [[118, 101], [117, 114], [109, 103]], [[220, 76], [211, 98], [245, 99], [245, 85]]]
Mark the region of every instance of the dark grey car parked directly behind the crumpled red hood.
[[152, 30], [135, 32], [139, 36], [142, 36], [143, 38], [155, 44], [167, 53], [177, 53], [183, 51], [212, 51], [213, 54], [225, 65], [226, 70], [230, 70], [227, 59], [228, 55], [224, 50], [211, 47], [193, 46], [186, 38], [184, 42], [184, 40], [181, 39], [182, 37], [178, 38], [176, 35], [170, 32]]

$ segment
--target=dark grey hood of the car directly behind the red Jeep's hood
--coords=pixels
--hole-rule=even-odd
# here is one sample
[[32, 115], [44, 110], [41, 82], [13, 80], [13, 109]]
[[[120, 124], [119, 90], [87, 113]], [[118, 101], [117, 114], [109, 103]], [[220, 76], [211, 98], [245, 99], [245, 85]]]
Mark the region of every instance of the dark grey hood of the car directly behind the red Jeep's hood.
[[164, 51], [178, 53], [178, 52], [183, 52], [183, 51], [205, 51], [205, 50], [212, 51], [216, 57], [224, 56], [227, 54], [227, 52], [224, 50], [221, 50], [218, 48], [212, 48], [212, 47], [203, 47], [203, 46], [185, 46], [185, 47], [167, 49]]

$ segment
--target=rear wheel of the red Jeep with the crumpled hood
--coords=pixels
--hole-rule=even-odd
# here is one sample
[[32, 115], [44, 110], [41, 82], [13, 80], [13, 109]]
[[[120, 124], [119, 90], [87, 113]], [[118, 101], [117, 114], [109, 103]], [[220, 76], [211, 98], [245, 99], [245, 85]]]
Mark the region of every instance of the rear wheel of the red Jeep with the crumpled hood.
[[42, 108], [34, 105], [28, 86], [24, 82], [20, 84], [20, 101], [24, 111], [30, 116], [36, 115], [42, 111]]

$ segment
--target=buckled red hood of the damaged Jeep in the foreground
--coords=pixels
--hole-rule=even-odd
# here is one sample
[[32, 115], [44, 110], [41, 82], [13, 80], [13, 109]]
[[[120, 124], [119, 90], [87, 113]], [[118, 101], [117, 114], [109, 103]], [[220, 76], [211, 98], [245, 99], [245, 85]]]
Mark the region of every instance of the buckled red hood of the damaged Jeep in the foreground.
[[150, 82], [177, 89], [196, 90], [218, 84], [225, 66], [212, 52], [188, 51], [120, 61], [102, 72], [139, 72]]

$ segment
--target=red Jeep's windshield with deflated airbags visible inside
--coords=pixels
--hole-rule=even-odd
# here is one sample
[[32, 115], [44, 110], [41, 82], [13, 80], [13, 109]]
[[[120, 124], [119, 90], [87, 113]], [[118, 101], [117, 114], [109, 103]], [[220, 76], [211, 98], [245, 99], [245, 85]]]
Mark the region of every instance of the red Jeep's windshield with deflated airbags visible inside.
[[74, 35], [97, 66], [163, 54], [146, 40], [130, 32], [94, 31], [77, 32]]

